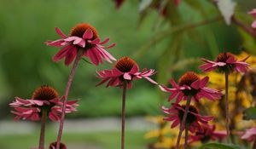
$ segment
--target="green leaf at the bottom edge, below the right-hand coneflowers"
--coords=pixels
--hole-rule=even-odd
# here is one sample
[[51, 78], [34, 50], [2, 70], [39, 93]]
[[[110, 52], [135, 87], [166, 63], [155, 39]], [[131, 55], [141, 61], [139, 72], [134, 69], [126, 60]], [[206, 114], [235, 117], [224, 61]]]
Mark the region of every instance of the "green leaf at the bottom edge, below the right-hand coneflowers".
[[233, 144], [207, 143], [200, 146], [198, 149], [241, 149], [241, 147]]

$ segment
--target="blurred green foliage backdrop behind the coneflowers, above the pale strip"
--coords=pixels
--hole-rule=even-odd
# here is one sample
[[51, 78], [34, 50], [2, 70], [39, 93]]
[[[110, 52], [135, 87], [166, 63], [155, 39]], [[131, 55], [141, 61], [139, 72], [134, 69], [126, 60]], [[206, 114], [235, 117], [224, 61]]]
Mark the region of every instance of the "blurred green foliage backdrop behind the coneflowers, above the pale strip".
[[[159, 2], [163, 3], [156, 5]], [[249, 26], [253, 19], [247, 11], [255, 1], [236, 3], [236, 14], [248, 18], [245, 23]], [[178, 6], [172, 0], [125, 1], [114, 9], [110, 0], [1, 0], [0, 18], [0, 118], [11, 117], [8, 103], [15, 96], [30, 98], [33, 89], [43, 84], [64, 93], [71, 67], [62, 61], [52, 62], [58, 49], [44, 44], [58, 37], [55, 26], [67, 33], [77, 23], [90, 23], [102, 38], [117, 43], [109, 50], [113, 56], [128, 55], [141, 67], [156, 69], [154, 79], [159, 83], [195, 70], [200, 57], [212, 58], [223, 51], [238, 54], [241, 49], [255, 51], [255, 39], [234, 24], [226, 26], [209, 1], [182, 0]], [[120, 90], [95, 87], [99, 81], [95, 71], [109, 67], [81, 61], [70, 91], [70, 99], [81, 99], [79, 112], [70, 117], [120, 115]], [[159, 89], [145, 82], [135, 83], [128, 91], [128, 116], [160, 113], [158, 103], [165, 95], [159, 96]]]

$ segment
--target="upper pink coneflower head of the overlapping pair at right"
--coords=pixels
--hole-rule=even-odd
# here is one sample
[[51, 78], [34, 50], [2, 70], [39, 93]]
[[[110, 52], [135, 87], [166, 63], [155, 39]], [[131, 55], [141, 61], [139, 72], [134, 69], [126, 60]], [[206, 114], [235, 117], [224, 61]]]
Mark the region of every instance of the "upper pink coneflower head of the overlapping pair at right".
[[187, 100], [189, 96], [191, 96], [192, 100], [196, 101], [203, 97], [208, 100], [220, 99], [222, 95], [220, 91], [206, 87], [208, 81], [209, 77], [201, 79], [195, 72], [186, 72], [178, 79], [178, 83], [175, 83], [173, 79], [170, 80], [172, 89], [164, 85], [160, 85], [160, 89], [164, 92], [171, 92], [168, 101], [177, 96], [176, 103], [179, 103], [181, 100]]

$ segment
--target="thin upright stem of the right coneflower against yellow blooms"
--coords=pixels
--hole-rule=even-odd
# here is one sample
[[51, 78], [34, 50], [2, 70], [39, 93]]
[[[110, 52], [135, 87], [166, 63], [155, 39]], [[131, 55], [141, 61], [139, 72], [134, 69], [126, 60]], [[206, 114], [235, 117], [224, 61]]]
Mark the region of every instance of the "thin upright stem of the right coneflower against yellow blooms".
[[230, 143], [229, 72], [226, 71], [224, 74], [225, 74], [225, 112], [226, 112], [227, 143]]

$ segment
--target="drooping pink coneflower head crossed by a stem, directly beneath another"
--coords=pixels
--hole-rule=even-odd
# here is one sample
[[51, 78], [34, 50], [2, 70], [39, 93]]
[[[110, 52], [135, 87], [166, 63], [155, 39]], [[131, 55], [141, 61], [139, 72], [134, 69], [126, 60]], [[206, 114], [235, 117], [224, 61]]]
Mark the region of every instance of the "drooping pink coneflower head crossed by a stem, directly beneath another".
[[[176, 103], [172, 103], [172, 106], [170, 108], [162, 106], [163, 112], [168, 114], [168, 117], [164, 117], [164, 120], [172, 121], [171, 128], [175, 128], [178, 124], [182, 122], [185, 108], [185, 105], [180, 106]], [[203, 129], [201, 127], [201, 124], [207, 124], [208, 121], [211, 121], [212, 119], [213, 117], [201, 116], [195, 106], [189, 106], [189, 112], [185, 125], [189, 125], [189, 131], [194, 133], [198, 130], [202, 131]]]

